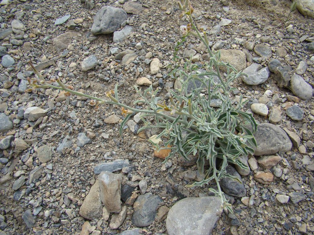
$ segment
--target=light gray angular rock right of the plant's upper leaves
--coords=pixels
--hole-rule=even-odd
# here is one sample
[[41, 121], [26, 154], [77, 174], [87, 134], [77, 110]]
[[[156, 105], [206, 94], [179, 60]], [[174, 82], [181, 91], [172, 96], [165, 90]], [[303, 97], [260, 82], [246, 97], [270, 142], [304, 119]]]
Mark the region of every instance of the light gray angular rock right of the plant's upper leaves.
[[262, 84], [267, 81], [270, 75], [268, 67], [262, 67], [262, 65], [257, 63], [248, 66], [243, 72], [247, 74], [247, 77], [241, 76], [241, 79], [248, 85]]

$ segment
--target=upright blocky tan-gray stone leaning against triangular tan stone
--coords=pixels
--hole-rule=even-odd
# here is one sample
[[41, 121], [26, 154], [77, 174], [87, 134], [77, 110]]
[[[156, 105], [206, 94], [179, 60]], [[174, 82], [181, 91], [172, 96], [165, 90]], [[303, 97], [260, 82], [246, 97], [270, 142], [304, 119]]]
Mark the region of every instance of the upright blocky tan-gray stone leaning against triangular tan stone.
[[121, 211], [121, 180], [122, 174], [102, 171], [98, 175], [100, 199], [109, 212]]

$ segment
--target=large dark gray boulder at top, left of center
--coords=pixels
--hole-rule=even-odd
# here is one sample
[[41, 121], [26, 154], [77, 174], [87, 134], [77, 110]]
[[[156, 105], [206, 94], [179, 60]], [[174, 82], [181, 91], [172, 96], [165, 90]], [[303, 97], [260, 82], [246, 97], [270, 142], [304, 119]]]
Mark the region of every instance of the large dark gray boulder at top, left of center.
[[120, 9], [104, 6], [96, 13], [92, 34], [110, 34], [121, 27], [123, 21], [127, 19], [127, 13]]

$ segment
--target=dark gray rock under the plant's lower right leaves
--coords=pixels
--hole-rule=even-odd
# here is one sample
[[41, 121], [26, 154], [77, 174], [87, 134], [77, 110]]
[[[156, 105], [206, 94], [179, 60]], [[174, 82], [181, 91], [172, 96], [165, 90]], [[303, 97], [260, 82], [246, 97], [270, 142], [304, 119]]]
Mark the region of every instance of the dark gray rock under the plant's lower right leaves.
[[243, 197], [246, 194], [245, 186], [242, 182], [241, 175], [234, 169], [232, 166], [228, 165], [226, 167], [227, 174], [236, 176], [240, 181], [236, 181], [234, 179], [224, 177], [219, 181], [219, 184], [222, 190], [231, 196]]

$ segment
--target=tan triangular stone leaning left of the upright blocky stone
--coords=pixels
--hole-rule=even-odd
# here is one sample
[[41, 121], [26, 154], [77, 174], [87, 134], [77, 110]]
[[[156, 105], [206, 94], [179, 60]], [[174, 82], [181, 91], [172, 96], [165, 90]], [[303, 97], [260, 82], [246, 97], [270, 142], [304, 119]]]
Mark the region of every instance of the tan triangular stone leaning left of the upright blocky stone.
[[85, 219], [94, 220], [102, 216], [102, 204], [100, 200], [100, 187], [98, 180], [91, 186], [82, 206], [79, 208], [80, 216]]

